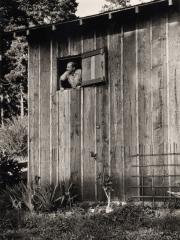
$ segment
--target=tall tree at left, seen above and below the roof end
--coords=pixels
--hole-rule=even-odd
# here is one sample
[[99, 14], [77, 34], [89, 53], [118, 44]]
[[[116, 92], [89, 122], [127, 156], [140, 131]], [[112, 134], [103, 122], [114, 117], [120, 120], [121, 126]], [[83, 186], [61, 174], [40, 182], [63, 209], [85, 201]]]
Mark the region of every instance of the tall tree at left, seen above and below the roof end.
[[[1, 0], [0, 29], [9, 31], [75, 18], [76, 0]], [[1, 37], [1, 34], [0, 34]], [[27, 41], [4, 35], [0, 76], [0, 124], [27, 113]]]

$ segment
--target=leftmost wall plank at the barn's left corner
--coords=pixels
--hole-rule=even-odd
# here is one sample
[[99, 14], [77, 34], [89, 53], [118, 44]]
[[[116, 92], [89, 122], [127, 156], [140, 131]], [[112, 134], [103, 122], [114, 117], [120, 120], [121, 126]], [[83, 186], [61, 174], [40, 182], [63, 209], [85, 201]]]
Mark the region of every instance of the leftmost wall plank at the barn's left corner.
[[29, 183], [39, 176], [39, 44], [29, 44]]

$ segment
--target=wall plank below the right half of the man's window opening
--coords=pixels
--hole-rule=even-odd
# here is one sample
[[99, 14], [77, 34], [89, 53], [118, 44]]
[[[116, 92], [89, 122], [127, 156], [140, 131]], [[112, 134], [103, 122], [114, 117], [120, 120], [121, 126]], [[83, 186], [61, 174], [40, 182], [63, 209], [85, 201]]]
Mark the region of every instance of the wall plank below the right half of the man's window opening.
[[[70, 39], [70, 54], [81, 53], [79, 33], [73, 34]], [[70, 99], [70, 169], [74, 191], [81, 199], [81, 90], [71, 90]]]

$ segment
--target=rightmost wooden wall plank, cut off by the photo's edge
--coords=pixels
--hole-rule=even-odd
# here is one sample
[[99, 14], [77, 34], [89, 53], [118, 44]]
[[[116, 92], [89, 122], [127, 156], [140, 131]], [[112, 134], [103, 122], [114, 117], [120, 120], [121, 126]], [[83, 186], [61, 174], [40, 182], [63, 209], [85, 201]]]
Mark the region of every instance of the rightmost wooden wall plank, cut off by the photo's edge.
[[[171, 152], [180, 152], [180, 12], [172, 11], [168, 16], [168, 68], [169, 68], [169, 143]], [[179, 156], [171, 156], [170, 164], [179, 164]], [[180, 182], [179, 166], [170, 167], [171, 186]], [[180, 191], [171, 188], [172, 191]]]

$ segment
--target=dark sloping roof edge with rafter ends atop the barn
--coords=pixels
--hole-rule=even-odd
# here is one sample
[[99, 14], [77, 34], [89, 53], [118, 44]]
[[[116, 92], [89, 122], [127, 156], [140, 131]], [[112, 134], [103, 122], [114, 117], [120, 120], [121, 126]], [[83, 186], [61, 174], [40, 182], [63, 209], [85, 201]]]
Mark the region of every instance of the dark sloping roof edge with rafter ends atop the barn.
[[143, 11], [150, 11], [157, 8], [167, 8], [170, 6], [175, 5], [179, 0], [155, 0], [147, 3], [142, 3], [139, 5], [134, 5], [131, 7], [126, 8], [120, 8], [112, 11], [106, 11], [103, 13], [90, 15], [82, 18], [77, 18], [70, 21], [61, 21], [51, 24], [44, 24], [44, 25], [38, 25], [33, 26], [29, 28], [22, 28], [22, 29], [16, 29], [14, 31], [8, 32], [13, 33], [15, 35], [27, 35], [29, 36], [31, 33], [39, 33], [44, 31], [56, 31], [58, 29], [64, 29], [64, 28], [73, 28], [73, 27], [86, 27], [89, 24], [96, 24], [98, 22], [103, 22], [104, 20], [112, 20], [114, 17], [126, 17], [126, 16], [136, 16], [137, 14], [141, 14]]

